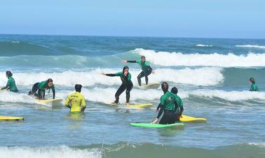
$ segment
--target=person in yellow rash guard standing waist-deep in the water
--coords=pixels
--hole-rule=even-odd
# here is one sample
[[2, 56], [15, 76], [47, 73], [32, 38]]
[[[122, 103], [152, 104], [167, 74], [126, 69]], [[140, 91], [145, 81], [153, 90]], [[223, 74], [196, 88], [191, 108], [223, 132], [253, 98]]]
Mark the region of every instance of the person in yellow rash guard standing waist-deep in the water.
[[[81, 94], [82, 85], [75, 85], [76, 92], [69, 94], [64, 105], [70, 108], [71, 112], [82, 112], [86, 109], [86, 101], [83, 94]], [[69, 105], [70, 104], [70, 105]]]

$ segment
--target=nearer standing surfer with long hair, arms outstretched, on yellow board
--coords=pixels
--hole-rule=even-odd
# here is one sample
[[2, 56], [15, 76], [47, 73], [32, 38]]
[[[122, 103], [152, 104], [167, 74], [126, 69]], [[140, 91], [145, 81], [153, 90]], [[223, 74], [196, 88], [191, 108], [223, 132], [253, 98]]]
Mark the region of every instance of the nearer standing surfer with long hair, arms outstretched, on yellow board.
[[126, 106], [129, 106], [130, 101], [130, 90], [132, 90], [133, 84], [130, 80], [132, 76], [129, 73], [129, 67], [124, 66], [123, 71], [119, 73], [101, 73], [104, 76], [119, 76], [121, 78], [121, 86], [118, 88], [116, 94], [115, 94], [115, 101], [114, 103], [118, 103], [119, 96], [125, 91], [126, 89]]

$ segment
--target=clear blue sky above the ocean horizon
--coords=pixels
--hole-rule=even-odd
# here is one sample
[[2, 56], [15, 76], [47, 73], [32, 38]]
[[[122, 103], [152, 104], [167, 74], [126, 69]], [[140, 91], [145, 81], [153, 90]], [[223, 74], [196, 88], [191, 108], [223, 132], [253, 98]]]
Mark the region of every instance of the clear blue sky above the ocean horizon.
[[0, 34], [265, 38], [265, 1], [1, 1]]

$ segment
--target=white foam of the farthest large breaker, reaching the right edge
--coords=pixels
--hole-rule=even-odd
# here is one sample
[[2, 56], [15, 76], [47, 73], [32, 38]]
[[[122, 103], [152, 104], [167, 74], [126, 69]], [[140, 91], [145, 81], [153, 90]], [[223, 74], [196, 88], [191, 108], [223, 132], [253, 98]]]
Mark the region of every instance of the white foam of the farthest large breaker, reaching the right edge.
[[137, 48], [132, 52], [144, 55], [147, 57], [147, 61], [161, 66], [265, 66], [265, 54], [182, 54], [182, 52], [155, 52], [154, 50], [144, 50], [142, 48]]

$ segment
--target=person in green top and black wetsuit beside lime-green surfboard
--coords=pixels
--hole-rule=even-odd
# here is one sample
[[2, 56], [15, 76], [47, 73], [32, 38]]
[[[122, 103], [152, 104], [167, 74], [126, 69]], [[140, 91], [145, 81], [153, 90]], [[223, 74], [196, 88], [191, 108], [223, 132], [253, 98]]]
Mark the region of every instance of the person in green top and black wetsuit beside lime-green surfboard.
[[156, 119], [152, 122], [156, 124], [158, 122], [159, 117], [161, 117], [162, 113], [163, 117], [161, 118], [159, 124], [174, 124], [176, 122], [175, 111], [177, 110], [177, 96], [172, 92], [168, 91], [168, 83], [163, 82], [161, 88], [164, 92], [163, 96], [160, 98], [159, 110]]

